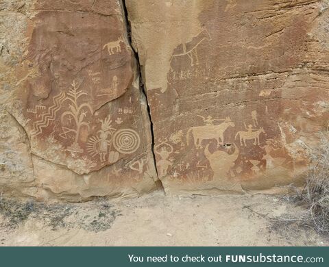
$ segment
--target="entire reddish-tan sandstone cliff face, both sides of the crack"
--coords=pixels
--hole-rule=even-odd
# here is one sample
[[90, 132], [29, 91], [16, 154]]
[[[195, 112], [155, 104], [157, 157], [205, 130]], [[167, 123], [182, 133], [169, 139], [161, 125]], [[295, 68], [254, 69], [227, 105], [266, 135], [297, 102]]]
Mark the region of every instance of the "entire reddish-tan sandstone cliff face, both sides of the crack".
[[169, 194], [297, 183], [328, 130], [328, 7], [2, 1], [2, 192], [80, 201], [158, 179]]

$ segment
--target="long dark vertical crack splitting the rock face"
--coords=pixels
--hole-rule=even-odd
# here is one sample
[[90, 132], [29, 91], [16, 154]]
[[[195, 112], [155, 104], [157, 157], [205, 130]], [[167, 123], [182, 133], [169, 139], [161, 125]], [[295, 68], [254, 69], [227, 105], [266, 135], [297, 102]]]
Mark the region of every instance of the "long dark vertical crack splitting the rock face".
[[[153, 127], [153, 121], [151, 119], [151, 110], [149, 107], [149, 101], [147, 99], [147, 92], [143, 83], [143, 75], [142, 75], [142, 71], [141, 71], [141, 64], [139, 61], [139, 55], [138, 52], [135, 51], [134, 47], [132, 46], [132, 31], [131, 31], [131, 26], [130, 26], [130, 22], [128, 19], [128, 12], [127, 12], [127, 7], [125, 5], [125, 0], [121, 0], [121, 7], [123, 10], [123, 16], [124, 16], [124, 20], [125, 20], [125, 25], [126, 25], [126, 29], [127, 29], [127, 38], [128, 38], [128, 42], [130, 44], [130, 47], [134, 53], [134, 58], [136, 59], [136, 64], [137, 64], [137, 73], [138, 73], [138, 77], [139, 77], [139, 88], [141, 90], [141, 95], [142, 97], [145, 98], [146, 104], [147, 104], [147, 114], [149, 115], [149, 124], [151, 127], [151, 151], [153, 154], [153, 160], [154, 160], [154, 166], [156, 168], [156, 174], [158, 175], [158, 168], [156, 166], [156, 154], [154, 153], [154, 145], [155, 145], [155, 141], [154, 141], [154, 127]], [[160, 179], [158, 179], [158, 181], [156, 181], [157, 186], [159, 188], [161, 188], [162, 190], [164, 190], [162, 182], [160, 181]]]

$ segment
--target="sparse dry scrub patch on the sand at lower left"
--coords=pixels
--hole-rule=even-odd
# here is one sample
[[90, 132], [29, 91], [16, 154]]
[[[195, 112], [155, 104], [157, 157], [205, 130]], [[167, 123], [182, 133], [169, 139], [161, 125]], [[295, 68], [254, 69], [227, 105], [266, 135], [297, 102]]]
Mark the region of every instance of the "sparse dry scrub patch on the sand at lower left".
[[[86, 215], [88, 213], [88, 215]], [[91, 215], [90, 215], [91, 214]], [[60, 228], [81, 228], [86, 231], [105, 231], [112, 227], [121, 213], [106, 200], [97, 198], [85, 207], [73, 203], [20, 202], [0, 196], [0, 215], [3, 223], [0, 227], [16, 229], [27, 219], [42, 221], [52, 230]]]

